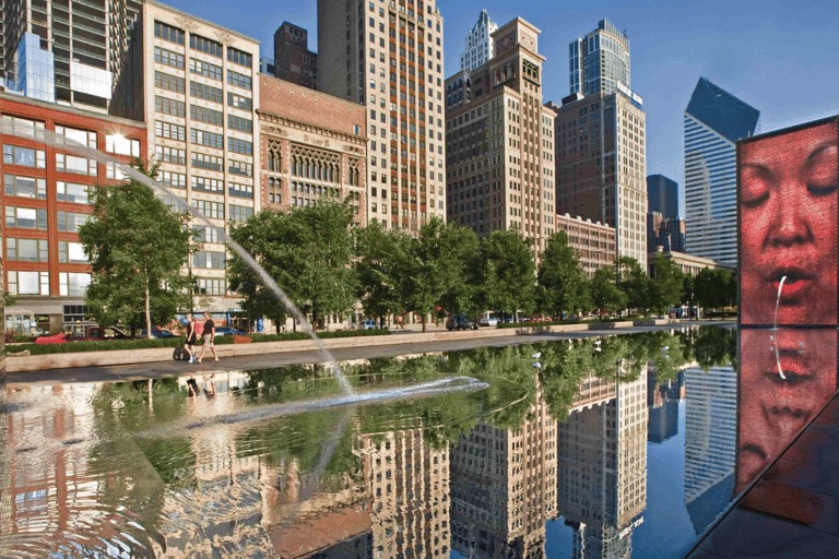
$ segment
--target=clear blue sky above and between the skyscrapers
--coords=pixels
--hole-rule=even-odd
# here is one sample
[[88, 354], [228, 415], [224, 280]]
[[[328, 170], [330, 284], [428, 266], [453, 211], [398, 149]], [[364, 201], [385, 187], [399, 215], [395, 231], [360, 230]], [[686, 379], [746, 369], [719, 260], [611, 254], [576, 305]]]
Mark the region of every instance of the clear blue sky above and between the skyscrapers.
[[[260, 40], [261, 55], [269, 58], [273, 57], [273, 34], [283, 21], [307, 28], [309, 49], [318, 50], [317, 0], [164, 2]], [[569, 94], [568, 44], [572, 39], [595, 29], [602, 19], [625, 29], [630, 41], [631, 88], [643, 97], [647, 114], [647, 174], [665, 175], [681, 189], [684, 110], [699, 78], [758, 109], [761, 132], [839, 115], [835, 0], [669, 0], [642, 7], [628, 0], [437, 0], [437, 5], [444, 17], [446, 76], [459, 70], [465, 36], [482, 9], [499, 26], [521, 16], [539, 27], [539, 50], [547, 59], [545, 103], [559, 104]]]

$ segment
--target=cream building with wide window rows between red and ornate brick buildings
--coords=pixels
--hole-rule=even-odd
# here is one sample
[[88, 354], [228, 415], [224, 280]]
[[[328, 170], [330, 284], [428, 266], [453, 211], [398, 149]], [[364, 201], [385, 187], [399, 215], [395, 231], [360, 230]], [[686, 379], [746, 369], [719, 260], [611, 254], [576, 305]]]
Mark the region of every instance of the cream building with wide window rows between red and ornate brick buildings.
[[212, 223], [193, 224], [203, 241], [189, 262], [199, 305], [235, 309], [220, 231], [260, 209], [259, 43], [154, 0], [145, 3], [143, 23], [145, 118], [157, 180]]

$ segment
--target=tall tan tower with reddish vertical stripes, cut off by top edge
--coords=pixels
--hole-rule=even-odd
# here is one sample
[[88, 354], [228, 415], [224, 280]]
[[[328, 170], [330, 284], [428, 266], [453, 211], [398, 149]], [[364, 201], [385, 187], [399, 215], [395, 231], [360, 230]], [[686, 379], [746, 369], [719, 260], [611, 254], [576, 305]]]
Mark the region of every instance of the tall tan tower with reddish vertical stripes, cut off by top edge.
[[[435, 0], [318, 0], [318, 88], [369, 111], [368, 219], [446, 218], [442, 17]], [[377, 202], [378, 212], [371, 204]]]

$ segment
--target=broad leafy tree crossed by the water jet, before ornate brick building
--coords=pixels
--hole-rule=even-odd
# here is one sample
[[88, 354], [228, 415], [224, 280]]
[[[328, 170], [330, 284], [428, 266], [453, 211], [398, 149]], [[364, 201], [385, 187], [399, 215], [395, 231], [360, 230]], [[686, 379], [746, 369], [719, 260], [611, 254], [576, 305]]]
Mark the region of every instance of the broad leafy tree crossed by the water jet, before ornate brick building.
[[[231, 228], [233, 240], [252, 255], [303, 312], [318, 317], [347, 312], [356, 300], [350, 266], [351, 210], [335, 203], [299, 206], [288, 213], [267, 210]], [[231, 289], [244, 297], [243, 309], [285, 321], [288, 310], [239, 257], [227, 265]]]

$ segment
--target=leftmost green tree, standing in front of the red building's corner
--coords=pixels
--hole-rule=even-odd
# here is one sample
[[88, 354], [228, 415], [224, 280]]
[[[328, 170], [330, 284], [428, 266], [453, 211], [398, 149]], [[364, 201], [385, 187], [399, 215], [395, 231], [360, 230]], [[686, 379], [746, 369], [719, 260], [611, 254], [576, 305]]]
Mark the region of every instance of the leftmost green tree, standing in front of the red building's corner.
[[[132, 166], [151, 178], [135, 159]], [[175, 212], [135, 179], [92, 189], [93, 216], [79, 228], [79, 240], [93, 271], [85, 301], [101, 324], [121, 322], [132, 330], [175, 318], [189, 302], [188, 278], [180, 270], [189, 254], [200, 248], [190, 245], [187, 213]]]

